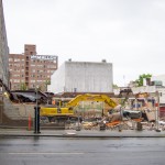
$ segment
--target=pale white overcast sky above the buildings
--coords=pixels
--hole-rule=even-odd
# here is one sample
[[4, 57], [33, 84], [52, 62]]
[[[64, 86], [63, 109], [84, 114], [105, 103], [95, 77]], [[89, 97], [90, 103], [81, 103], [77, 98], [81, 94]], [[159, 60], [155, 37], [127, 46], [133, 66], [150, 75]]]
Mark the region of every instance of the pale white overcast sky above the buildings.
[[165, 0], [3, 0], [10, 53], [113, 64], [119, 86], [165, 74]]

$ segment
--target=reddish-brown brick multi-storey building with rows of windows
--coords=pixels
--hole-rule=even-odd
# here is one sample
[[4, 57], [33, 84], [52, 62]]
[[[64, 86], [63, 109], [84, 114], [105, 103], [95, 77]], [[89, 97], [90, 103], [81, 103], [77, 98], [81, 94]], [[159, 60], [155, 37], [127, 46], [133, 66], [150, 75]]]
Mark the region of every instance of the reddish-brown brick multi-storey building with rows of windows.
[[36, 46], [26, 44], [23, 54], [9, 54], [11, 90], [34, 89], [37, 86], [46, 91], [51, 75], [57, 67], [57, 56], [36, 55]]

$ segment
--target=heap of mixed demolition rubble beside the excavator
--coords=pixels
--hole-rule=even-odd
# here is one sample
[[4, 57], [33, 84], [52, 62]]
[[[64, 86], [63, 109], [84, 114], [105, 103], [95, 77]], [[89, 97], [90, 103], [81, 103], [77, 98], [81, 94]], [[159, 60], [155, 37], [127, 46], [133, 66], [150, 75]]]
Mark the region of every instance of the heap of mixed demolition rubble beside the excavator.
[[[129, 112], [128, 110], [125, 112]], [[165, 131], [165, 120], [162, 119], [158, 122], [155, 120], [155, 112], [151, 110], [141, 111], [141, 116], [138, 111], [130, 111], [132, 114], [121, 116], [120, 112], [109, 114], [101, 119], [85, 119], [79, 123], [67, 124], [66, 129], [74, 130], [80, 127], [81, 130], [156, 130]], [[144, 117], [144, 118], [143, 118]], [[102, 129], [103, 128], [103, 129]]]

